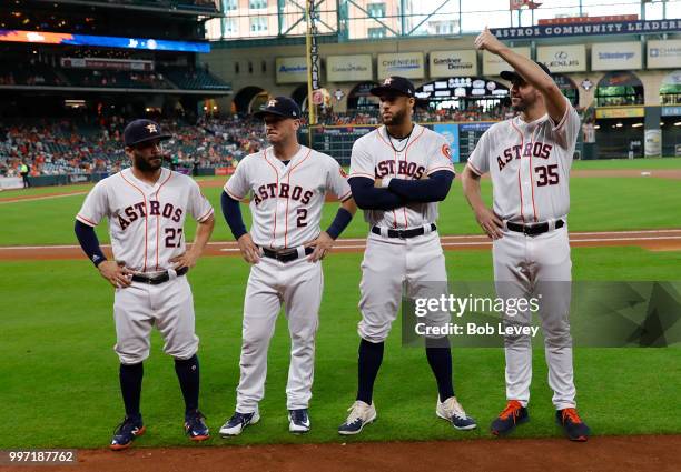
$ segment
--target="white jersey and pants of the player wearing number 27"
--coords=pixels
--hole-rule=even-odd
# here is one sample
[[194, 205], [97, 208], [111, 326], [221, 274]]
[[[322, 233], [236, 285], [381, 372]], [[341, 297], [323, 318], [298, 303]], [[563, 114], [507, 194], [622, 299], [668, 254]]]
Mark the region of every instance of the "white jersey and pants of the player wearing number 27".
[[76, 217], [90, 227], [106, 217], [114, 258], [128, 269], [147, 277], [165, 271], [170, 275], [168, 282], [157, 285], [134, 281], [130, 287], [116, 289], [115, 350], [122, 364], [136, 364], [149, 356], [155, 324], [167, 354], [189, 359], [198, 349], [191, 289], [169, 262], [185, 252], [187, 213], [199, 222], [213, 214], [213, 207], [191, 178], [161, 169], [152, 185], [125, 169], [99, 181]]

